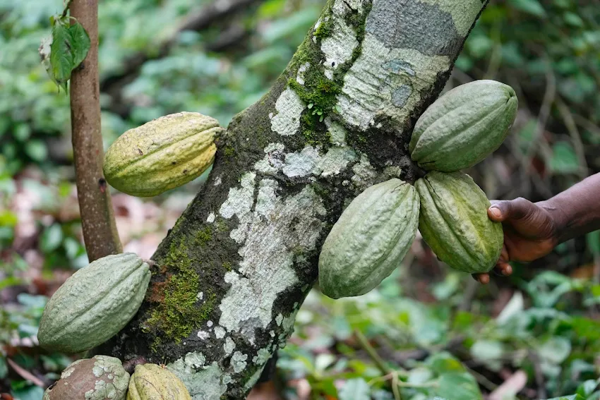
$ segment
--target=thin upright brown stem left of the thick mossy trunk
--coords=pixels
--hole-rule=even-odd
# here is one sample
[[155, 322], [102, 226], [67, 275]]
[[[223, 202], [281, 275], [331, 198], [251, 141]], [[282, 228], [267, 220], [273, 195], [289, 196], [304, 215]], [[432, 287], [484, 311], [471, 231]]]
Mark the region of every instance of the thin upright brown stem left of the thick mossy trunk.
[[71, 75], [71, 131], [83, 240], [92, 262], [121, 253], [123, 248], [102, 174], [97, 0], [73, 0], [69, 10], [88, 32], [91, 42], [88, 56]]

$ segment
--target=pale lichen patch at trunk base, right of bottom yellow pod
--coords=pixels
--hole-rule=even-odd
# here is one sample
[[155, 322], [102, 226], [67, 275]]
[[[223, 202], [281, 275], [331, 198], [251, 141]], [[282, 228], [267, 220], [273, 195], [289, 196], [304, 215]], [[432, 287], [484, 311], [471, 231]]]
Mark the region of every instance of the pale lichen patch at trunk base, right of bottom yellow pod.
[[231, 376], [225, 374], [216, 362], [196, 370], [181, 358], [167, 365], [181, 382], [184, 382], [193, 400], [220, 400], [227, 392], [227, 383]]

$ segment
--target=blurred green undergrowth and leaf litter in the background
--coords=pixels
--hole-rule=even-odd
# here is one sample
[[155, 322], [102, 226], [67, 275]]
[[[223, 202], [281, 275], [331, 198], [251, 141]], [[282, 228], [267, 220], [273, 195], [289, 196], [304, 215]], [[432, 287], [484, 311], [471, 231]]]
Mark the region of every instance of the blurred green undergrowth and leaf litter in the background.
[[[181, 110], [227, 126], [268, 90], [324, 3], [251, 1], [175, 35], [160, 51], [210, 2], [100, 1], [105, 145]], [[0, 2], [0, 392], [20, 400], [40, 400], [35, 383], [51, 383], [71, 362], [33, 338], [47, 296], [87, 263], [73, 195], [69, 100], [37, 54], [49, 16], [61, 7], [61, 0]], [[140, 56], [145, 62], [130, 73]], [[492, 1], [456, 66], [449, 85], [496, 79], [520, 100], [505, 145], [469, 171], [488, 197], [542, 200], [600, 171], [596, 2]], [[143, 204], [182, 210], [202, 181]], [[145, 235], [160, 238], [165, 225]], [[514, 265], [510, 279], [486, 287], [439, 265], [419, 243], [412, 255], [366, 296], [334, 302], [311, 293], [280, 352], [288, 399], [301, 398], [307, 384], [311, 399], [479, 399], [518, 373], [526, 383], [513, 383], [503, 399], [600, 399], [598, 232]]]

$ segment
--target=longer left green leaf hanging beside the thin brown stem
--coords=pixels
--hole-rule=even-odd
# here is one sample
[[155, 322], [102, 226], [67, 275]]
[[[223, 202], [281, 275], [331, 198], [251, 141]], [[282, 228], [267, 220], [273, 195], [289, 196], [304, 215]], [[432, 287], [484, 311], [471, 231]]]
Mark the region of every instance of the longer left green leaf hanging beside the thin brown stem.
[[66, 91], [66, 83], [73, 71], [72, 37], [68, 20], [54, 20], [52, 44], [50, 45], [50, 64], [57, 85]]

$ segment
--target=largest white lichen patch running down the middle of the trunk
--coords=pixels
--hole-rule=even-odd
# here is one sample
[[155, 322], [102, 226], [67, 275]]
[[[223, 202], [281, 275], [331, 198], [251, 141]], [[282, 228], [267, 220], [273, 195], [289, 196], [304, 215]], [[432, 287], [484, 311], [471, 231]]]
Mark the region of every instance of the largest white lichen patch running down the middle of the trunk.
[[298, 283], [294, 252], [316, 248], [323, 229], [319, 217], [325, 212], [320, 197], [306, 187], [288, 198], [275, 195], [266, 214], [255, 211], [242, 216], [250, 222], [244, 246], [239, 248], [240, 274], [225, 274], [231, 287], [219, 305], [220, 326], [241, 332], [251, 343], [256, 328], [268, 327], [277, 296]]

